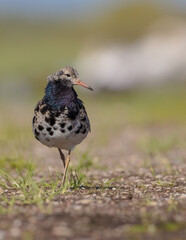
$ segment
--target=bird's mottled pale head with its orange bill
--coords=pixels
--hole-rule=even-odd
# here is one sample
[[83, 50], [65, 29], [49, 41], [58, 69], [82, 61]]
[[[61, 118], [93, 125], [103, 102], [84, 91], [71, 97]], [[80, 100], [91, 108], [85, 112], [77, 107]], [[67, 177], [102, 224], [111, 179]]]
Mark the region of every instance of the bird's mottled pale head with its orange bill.
[[66, 66], [60, 69], [58, 72], [48, 76], [47, 80], [48, 82], [54, 83], [61, 82], [63, 86], [69, 88], [73, 87], [74, 85], [80, 85], [93, 91], [91, 87], [89, 87], [84, 82], [80, 81], [77, 70], [71, 66]]

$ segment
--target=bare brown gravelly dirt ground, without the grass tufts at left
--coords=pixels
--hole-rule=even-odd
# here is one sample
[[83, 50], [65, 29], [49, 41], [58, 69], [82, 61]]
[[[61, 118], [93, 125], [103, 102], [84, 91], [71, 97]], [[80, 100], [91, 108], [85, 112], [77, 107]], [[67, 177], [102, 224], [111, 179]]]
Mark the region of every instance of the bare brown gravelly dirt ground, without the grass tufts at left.
[[[87, 172], [87, 185], [41, 208], [17, 204], [13, 213], [2, 214], [0, 240], [186, 239], [184, 136], [186, 129], [178, 126], [126, 127], [91, 149], [99, 167]], [[88, 145], [89, 140], [79, 151]], [[40, 159], [41, 175], [47, 167], [51, 172], [61, 167], [53, 160], [57, 152], [37, 142], [33, 155]]]

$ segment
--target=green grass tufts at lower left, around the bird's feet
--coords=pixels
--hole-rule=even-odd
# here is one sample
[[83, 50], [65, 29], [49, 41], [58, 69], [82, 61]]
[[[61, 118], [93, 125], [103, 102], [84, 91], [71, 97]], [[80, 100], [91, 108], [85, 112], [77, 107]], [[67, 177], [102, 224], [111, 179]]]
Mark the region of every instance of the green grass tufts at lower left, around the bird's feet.
[[[26, 159], [1, 158], [0, 168], [0, 214], [13, 211], [13, 207], [18, 205], [36, 204], [41, 211], [47, 212], [46, 203], [50, 203], [54, 198], [65, 193], [68, 189], [76, 189], [82, 184], [86, 184], [86, 173], [93, 168], [92, 159], [88, 153], [81, 154], [77, 165], [69, 168], [69, 181], [65, 188], [60, 186], [61, 174], [55, 176], [38, 177], [38, 172], [33, 162]], [[14, 177], [12, 173], [14, 172]], [[16, 173], [16, 175], [15, 175]], [[7, 190], [8, 194], [4, 194]]]

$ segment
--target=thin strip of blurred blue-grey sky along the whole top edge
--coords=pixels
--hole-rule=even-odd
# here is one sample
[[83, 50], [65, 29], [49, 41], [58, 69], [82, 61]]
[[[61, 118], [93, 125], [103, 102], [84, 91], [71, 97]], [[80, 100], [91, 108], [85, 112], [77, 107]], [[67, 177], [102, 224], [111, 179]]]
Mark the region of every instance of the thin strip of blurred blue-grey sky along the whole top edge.
[[[0, 0], [0, 14], [23, 16], [73, 16], [100, 9], [125, 4], [128, 2], [142, 2], [143, 0]], [[186, 9], [186, 0], [146, 0], [146, 2], [160, 2], [164, 6], [176, 6]]]

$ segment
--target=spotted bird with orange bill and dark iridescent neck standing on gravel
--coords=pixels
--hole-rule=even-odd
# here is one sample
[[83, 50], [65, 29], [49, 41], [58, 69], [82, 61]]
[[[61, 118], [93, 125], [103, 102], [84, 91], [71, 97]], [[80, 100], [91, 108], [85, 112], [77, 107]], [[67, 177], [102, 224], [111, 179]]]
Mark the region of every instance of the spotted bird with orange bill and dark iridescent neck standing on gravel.
[[[58, 149], [64, 165], [62, 186], [65, 186], [71, 151], [91, 131], [84, 103], [78, 98], [74, 86], [93, 89], [79, 79], [72, 66], [49, 75], [47, 81], [44, 97], [34, 109], [32, 131], [39, 142]], [[63, 150], [68, 151], [66, 158]]]

